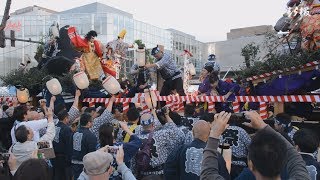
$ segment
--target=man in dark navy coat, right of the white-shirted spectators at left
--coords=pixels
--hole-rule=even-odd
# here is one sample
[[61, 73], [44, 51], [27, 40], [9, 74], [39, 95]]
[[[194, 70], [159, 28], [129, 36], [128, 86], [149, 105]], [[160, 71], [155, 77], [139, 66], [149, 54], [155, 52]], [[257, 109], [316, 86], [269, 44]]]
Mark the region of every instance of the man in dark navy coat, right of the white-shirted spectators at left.
[[72, 136], [73, 132], [68, 126], [70, 119], [67, 110], [58, 113], [59, 122], [56, 125], [56, 134], [53, 139], [55, 158], [52, 159], [53, 177], [55, 180], [72, 178]]

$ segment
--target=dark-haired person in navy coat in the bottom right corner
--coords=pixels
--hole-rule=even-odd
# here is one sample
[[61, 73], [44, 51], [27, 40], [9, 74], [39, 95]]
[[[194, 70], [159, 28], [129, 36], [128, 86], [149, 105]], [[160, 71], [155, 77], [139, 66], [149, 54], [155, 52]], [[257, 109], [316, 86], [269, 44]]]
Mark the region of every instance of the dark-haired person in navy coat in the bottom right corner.
[[320, 179], [320, 163], [314, 157], [314, 152], [319, 147], [319, 138], [310, 129], [300, 129], [294, 136], [293, 141], [299, 154], [306, 163], [306, 168], [312, 180]]

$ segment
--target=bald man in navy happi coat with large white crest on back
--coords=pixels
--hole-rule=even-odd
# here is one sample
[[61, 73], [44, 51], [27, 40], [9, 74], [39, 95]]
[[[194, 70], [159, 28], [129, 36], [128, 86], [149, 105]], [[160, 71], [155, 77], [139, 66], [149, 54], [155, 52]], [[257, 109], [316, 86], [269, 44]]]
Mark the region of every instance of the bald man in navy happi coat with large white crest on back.
[[[194, 124], [192, 133], [194, 140], [182, 145], [168, 157], [164, 168], [165, 179], [200, 179], [203, 149], [209, 138], [210, 124], [199, 120]], [[218, 165], [219, 174], [225, 179], [230, 179], [226, 162], [220, 153], [218, 153]]]

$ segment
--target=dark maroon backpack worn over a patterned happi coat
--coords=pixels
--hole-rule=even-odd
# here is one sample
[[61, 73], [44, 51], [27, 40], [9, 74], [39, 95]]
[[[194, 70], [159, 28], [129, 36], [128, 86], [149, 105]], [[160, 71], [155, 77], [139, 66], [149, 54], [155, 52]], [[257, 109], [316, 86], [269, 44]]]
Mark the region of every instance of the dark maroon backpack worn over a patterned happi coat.
[[137, 168], [139, 171], [146, 171], [151, 168], [151, 151], [150, 148], [152, 146], [152, 136], [153, 132], [151, 132], [148, 136], [148, 140], [146, 143], [142, 143], [142, 148], [137, 153]]

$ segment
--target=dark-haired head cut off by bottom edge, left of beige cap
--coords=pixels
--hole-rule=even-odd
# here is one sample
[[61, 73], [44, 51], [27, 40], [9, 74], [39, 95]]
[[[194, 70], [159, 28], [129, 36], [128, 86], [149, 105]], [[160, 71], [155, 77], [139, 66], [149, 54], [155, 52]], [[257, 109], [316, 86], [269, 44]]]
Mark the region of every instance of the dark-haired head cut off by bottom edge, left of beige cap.
[[43, 159], [24, 161], [14, 174], [13, 180], [51, 180], [49, 167]]

